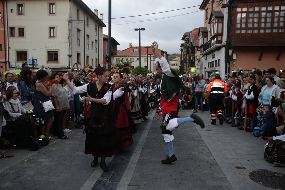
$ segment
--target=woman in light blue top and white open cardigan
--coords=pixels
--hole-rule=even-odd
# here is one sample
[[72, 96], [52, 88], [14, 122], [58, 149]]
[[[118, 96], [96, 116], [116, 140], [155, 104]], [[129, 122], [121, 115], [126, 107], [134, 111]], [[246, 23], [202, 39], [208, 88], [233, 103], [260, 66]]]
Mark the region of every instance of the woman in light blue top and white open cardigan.
[[271, 105], [272, 96], [278, 97], [280, 93], [280, 87], [276, 85], [273, 77], [267, 77], [265, 79], [265, 86], [261, 88], [261, 92], [258, 96], [258, 101], [263, 105]]

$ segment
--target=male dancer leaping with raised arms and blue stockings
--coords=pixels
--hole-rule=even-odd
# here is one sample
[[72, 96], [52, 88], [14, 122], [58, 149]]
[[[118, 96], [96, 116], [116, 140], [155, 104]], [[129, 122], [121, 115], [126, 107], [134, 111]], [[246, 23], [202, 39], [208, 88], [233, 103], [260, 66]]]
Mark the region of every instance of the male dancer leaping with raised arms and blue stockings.
[[158, 43], [152, 42], [150, 48], [154, 55], [155, 69], [159, 73], [160, 77], [160, 93], [162, 100], [160, 101], [160, 107], [158, 112], [163, 115], [162, 124], [162, 136], [166, 142], [169, 150], [169, 156], [165, 160], [161, 160], [162, 164], [169, 164], [177, 160], [173, 150], [174, 136], [172, 131], [176, 129], [180, 124], [186, 122], [194, 122], [204, 128], [203, 120], [196, 114], [192, 114], [190, 117], [177, 118], [177, 104], [178, 104], [178, 93], [180, 88], [185, 90], [185, 85], [178, 76], [178, 74], [170, 69], [168, 62], [158, 50]]

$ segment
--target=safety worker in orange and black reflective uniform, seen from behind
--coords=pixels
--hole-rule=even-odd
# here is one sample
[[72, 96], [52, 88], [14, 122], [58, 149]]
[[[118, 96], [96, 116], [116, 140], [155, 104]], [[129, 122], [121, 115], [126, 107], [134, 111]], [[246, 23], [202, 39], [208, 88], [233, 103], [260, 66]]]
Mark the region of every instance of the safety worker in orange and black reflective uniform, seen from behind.
[[215, 80], [212, 81], [207, 89], [207, 103], [210, 107], [212, 125], [216, 125], [216, 114], [219, 118], [219, 123], [224, 123], [223, 109], [227, 92], [226, 84], [221, 81], [219, 74], [215, 75]]

